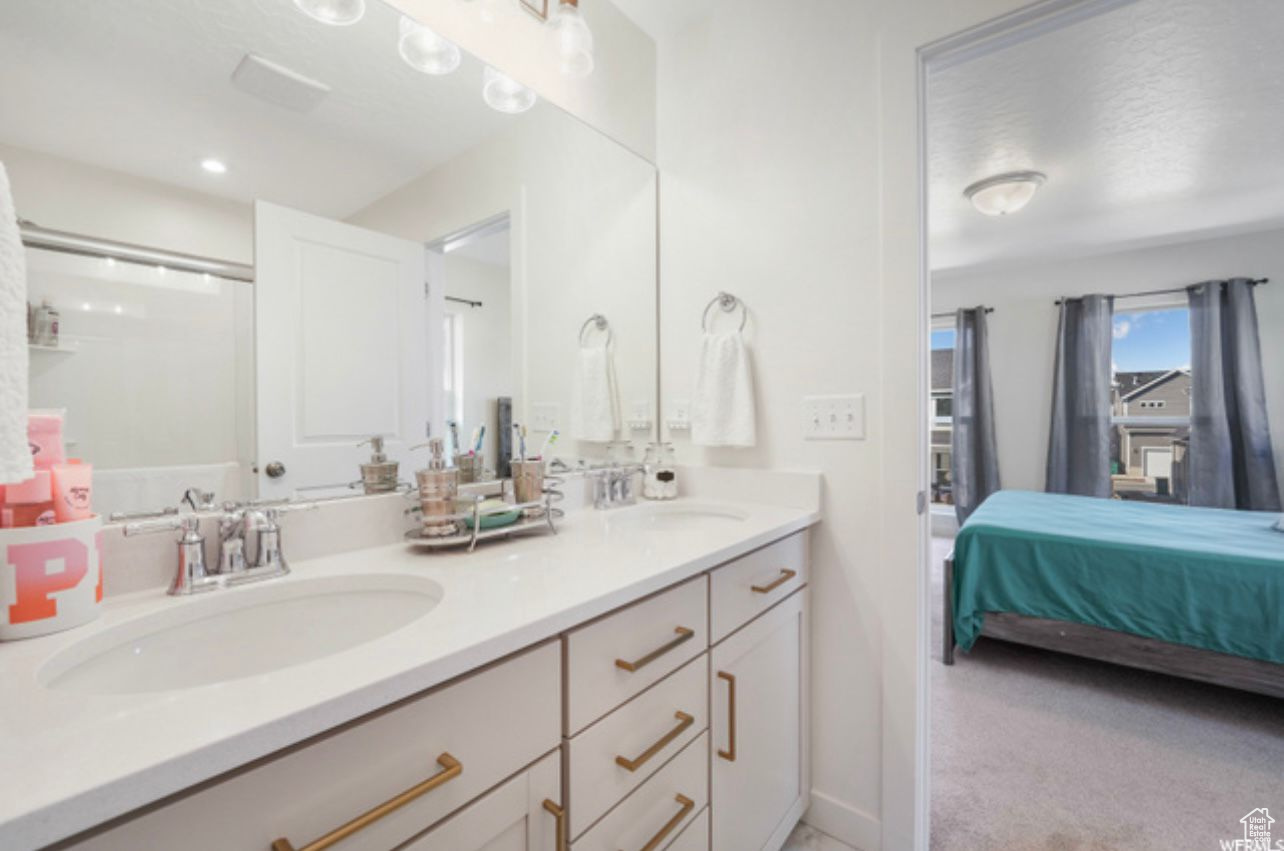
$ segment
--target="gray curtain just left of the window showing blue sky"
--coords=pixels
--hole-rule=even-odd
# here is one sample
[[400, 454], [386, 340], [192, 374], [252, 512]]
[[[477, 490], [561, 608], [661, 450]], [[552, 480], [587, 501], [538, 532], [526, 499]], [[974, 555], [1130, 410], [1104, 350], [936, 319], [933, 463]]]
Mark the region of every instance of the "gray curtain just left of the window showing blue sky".
[[1111, 495], [1111, 330], [1115, 297], [1064, 299], [1057, 329], [1048, 493]]

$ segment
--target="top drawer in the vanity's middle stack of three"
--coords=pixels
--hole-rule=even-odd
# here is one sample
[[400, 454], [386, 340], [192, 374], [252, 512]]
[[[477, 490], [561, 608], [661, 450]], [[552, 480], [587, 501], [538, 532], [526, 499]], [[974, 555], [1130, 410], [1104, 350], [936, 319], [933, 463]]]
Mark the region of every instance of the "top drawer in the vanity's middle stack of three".
[[566, 718], [578, 733], [707, 647], [704, 576], [566, 637]]

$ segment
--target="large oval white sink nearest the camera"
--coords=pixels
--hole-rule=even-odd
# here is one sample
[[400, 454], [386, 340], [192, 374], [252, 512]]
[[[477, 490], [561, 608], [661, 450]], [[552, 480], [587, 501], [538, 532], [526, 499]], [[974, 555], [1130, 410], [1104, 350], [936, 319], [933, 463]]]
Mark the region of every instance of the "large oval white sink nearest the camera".
[[95, 633], [54, 655], [42, 685], [86, 694], [168, 692], [300, 665], [429, 614], [442, 587], [392, 574], [216, 592]]

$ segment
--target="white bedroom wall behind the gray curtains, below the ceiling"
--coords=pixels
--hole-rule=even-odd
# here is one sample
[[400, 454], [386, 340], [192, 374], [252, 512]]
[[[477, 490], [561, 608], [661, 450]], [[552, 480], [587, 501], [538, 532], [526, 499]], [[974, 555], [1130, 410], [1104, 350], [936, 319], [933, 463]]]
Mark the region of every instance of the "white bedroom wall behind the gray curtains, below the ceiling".
[[[1058, 297], [1143, 293], [1236, 276], [1284, 281], [1284, 231], [933, 273], [933, 312], [977, 304], [995, 308], [989, 317], [990, 361], [1004, 486], [1044, 488], [1058, 316], [1053, 302]], [[1284, 286], [1260, 286], [1254, 294], [1266, 402], [1284, 481]], [[1185, 298], [1165, 300], [1184, 303]], [[1116, 309], [1149, 303], [1125, 299]]]

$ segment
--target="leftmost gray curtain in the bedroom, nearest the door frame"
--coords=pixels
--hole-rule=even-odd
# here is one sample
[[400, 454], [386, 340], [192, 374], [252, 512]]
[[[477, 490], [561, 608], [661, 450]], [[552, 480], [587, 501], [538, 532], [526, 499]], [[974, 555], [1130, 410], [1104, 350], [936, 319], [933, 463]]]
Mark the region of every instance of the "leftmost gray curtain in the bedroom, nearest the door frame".
[[999, 449], [994, 440], [994, 389], [990, 385], [985, 308], [960, 309], [954, 320], [954, 331], [950, 477], [954, 513], [963, 522], [1003, 485], [999, 483]]

